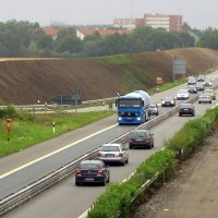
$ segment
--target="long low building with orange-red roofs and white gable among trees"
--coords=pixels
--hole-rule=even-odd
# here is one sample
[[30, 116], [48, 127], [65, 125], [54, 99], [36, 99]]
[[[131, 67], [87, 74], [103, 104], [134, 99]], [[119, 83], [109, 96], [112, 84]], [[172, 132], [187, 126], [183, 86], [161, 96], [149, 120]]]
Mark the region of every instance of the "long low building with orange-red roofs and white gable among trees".
[[81, 28], [76, 31], [76, 35], [77, 37], [83, 40], [85, 38], [85, 36], [90, 36], [94, 34], [99, 34], [101, 37], [108, 36], [108, 35], [113, 35], [113, 34], [132, 34], [133, 31], [131, 29], [114, 29], [114, 28], [99, 28], [99, 29], [95, 29], [95, 28]]

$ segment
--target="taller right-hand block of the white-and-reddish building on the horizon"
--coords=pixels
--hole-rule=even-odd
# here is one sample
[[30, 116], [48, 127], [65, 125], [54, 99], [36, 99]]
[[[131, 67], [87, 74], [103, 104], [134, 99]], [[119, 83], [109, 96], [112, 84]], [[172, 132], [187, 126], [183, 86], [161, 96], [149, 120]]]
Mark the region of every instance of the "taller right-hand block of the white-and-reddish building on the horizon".
[[165, 28], [167, 31], [182, 31], [182, 15], [144, 14], [145, 26]]

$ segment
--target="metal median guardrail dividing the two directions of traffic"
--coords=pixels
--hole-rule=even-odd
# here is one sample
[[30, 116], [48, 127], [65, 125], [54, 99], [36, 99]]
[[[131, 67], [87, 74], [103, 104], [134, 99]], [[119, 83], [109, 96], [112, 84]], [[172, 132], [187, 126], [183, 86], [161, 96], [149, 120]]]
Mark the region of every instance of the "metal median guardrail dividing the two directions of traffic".
[[[194, 102], [197, 100], [197, 96], [194, 96], [193, 98], [186, 100], [186, 102]], [[179, 106], [175, 106], [174, 108], [170, 109], [169, 111], [158, 116], [155, 119], [152, 119], [150, 121], [140, 125], [137, 129], [150, 129], [161, 121], [166, 120], [170, 116], [174, 114], [179, 109]], [[126, 143], [130, 138], [130, 132], [114, 138], [111, 141], [111, 143]], [[16, 193], [13, 193], [3, 199], [0, 201], [0, 215], [5, 214], [7, 211], [11, 210], [12, 208], [19, 206], [20, 204], [23, 204], [27, 199], [34, 197], [35, 195], [39, 194], [40, 192], [49, 189], [53, 184], [60, 182], [61, 180], [65, 179], [66, 177], [73, 174], [75, 169], [77, 168], [81, 160], [84, 159], [94, 159], [97, 157], [99, 148], [92, 150], [90, 153], [80, 157], [78, 159], [59, 168], [58, 170], [47, 174], [46, 177], [35, 181], [34, 183], [21, 189]]]

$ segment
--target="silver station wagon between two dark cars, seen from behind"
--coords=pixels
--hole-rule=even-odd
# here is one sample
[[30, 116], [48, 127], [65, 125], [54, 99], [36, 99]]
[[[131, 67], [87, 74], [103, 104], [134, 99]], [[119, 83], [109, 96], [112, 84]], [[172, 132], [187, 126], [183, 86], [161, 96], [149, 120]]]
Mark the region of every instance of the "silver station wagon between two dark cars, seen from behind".
[[129, 162], [128, 148], [121, 143], [104, 144], [98, 152], [98, 159], [105, 164], [121, 164]]

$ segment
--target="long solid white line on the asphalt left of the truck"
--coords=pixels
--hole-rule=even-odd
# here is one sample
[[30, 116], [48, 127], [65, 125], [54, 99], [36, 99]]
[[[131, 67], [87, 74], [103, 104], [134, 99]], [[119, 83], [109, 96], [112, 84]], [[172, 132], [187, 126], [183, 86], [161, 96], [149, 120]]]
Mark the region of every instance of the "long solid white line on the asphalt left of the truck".
[[71, 146], [73, 146], [73, 145], [75, 145], [75, 144], [77, 144], [77, 143], [81, 143], [81, 142], [83, 142], [83, 141], [85, 141], [85, 140], [88, 140], [88, 138], [90, 138], [90, 137], [93, 137], [93, 136], [95, 136], [95, 135], [97, 135], [97, 134], [99, 134], [99, 133], [102, 133], [102, 132], [105, 132], [105, 131], [107, 131], [107, 130], [110, 130], [110, 129], [112, 129], [112, 128], [114, 128], [114, 126], [117, 126], [117, 125], [118, 125], [118, 123], [114, 124], [114, 125], [111, 125], [111, 126], [109, 126], [109, 128], [106, 128], [106, 129], [104, 129], [104, 130], [100, 130], [100, 131], [98, 131], [98, 132], [96, 132], [96, 133], [94, 133], [94, 134], [92, 134], [92, 135], [88, 135], [88, 136], [82, 138], [82, 140], [78, 140], [78, 141], [76, 141], [76, 142], [74, 142], [74, 143], [72, 143], [72, 144], [69, 144], [69, 145], [66, 145], [66, 146], [64, 146], [64, 147], [62, 147], [62, 148], [60, 148], [60, 149], [57, 149], [57, 150], [55, 150], [55, 152], [52, 152], [52, 153], [49, 153], [48, 155], [45, 155], [45, 156], [43, 156], [43, 157], [40, 157], [40, 158], [38, 158], [38, 159], [35, 159], [35, 160], [33, 160], [33, 161], [31, 161], [31, 162], [27, 162], [26, 165], [23, 165], [23, 166], [21, 166], [21, 167], [19, 167], [19, 168], [15, 168], [15, 169], [13, 169], [13, 170], [11, 170], [11, 171], [4, 173], [4, 174], [1, 174], [1, 175], [0, 175], [0, 179], [5, 178], [5, 177], [8, 177], [9, 174], [12, 174], [12, 173], [14, 173], [14, 172], [16, 172], [16, 171], [19, 171], [19, 170], [21, 170], [21, 169], [24, 169], [25, 167], [28, 167], [28, 166], [31, 166], [31, 165], [33, 165], [33, 164], [35, 164], [35, 162], [38, 162], [38, 161], [40, 161], [40, 160], [43, 160], [43, 159], [45, 159], [45, 158], [47, 158], [47, 157], [50, 157], [50, 156], [52, 156], [52, 155], [55, 155], [55, 154], [57, 154], [57, 153], [60, 153], [60, 152], [62, 152], [62, 150], [64, 150], [64, 149], [71, 147]]

